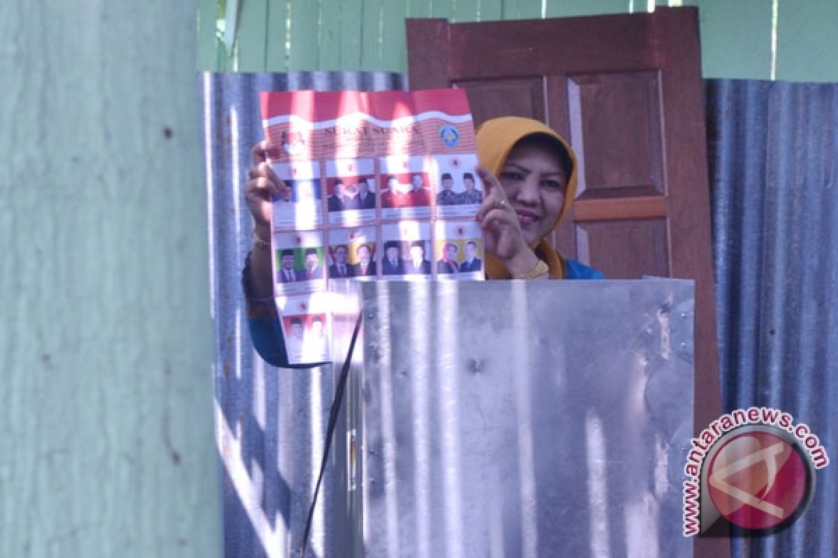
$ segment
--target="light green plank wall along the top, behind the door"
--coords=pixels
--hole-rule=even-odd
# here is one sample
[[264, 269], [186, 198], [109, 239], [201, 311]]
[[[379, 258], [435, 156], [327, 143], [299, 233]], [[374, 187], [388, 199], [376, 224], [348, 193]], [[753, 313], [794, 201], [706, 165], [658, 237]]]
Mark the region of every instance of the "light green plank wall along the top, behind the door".
[[[404, 72], [405, 18], [472, 22], [642, 12], [649, 7], [648, 0], [241, 0], [236, 42], [228, 52], [215, 27], [219, 4], [230, 2], [199, 2], [201, 69]], [[774, 0], [682, 3], [700, 9], [706, 78], [771, 78]], [[777, 79], [838, 81], [835, 0], [777, 3]]]

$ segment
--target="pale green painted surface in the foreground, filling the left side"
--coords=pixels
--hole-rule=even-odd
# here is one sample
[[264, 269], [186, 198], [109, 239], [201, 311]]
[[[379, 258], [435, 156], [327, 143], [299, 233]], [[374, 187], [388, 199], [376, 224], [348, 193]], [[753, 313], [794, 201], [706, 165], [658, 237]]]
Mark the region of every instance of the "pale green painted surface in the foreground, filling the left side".
[[196, 9], [0, 9], [0, 556], [221, 554]]

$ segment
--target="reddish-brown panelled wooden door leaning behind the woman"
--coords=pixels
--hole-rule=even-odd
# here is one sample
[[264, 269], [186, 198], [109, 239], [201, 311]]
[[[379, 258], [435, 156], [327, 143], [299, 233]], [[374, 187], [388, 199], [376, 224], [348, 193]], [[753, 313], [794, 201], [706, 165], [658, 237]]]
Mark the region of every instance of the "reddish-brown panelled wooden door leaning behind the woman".
[[[696, 280], [696, 412], [722, 413], [698, 12], [457, 23], [407, 20], [411, 89], [461, 87], [475, 123], [530, 116], [579, 159], [554, 242], [608, 279]], [[711, 548], [713, 550], [711, 550]], [[702, 540], [700, 554], [727, 555]]]

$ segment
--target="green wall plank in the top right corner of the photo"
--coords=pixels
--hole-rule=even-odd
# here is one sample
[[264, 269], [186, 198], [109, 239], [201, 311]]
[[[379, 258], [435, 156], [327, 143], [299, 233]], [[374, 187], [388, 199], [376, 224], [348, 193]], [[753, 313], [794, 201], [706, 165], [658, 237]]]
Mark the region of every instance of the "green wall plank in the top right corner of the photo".
[[838, 3], [779, 0], [777, 79], [838, 81]]

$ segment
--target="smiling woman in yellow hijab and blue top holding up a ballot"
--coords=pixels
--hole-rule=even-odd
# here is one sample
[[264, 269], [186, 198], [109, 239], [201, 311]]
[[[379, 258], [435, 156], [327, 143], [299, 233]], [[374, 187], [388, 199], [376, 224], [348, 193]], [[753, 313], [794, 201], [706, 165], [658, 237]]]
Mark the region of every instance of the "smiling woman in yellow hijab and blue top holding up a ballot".
[[[537, 120], [504, 116], [477, 131], [477, 172], [486, 196], [477, 220], [483, 230], [488, 279], [602, 279], [564, 258], [547, 236], [565, 217], [577, 187], [577, 163], [566, 141]], [[254, 218], [253, 250], [242, 272], [251, 338], [261, 356], [287, 366], [273, 301], [269, 242], [272, 197], [286, 188], [266, 162], [266, 142], [252, 151], [245, 198]]]

